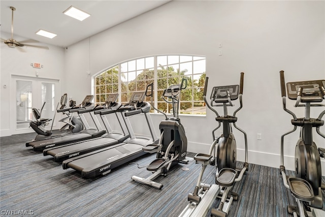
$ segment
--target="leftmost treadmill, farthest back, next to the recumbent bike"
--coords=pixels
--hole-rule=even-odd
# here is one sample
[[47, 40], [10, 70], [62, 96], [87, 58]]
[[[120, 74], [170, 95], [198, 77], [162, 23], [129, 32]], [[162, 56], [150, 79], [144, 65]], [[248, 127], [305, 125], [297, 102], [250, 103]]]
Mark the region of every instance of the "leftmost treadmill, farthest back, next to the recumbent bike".
[[[82, 120], [83, 125], [85, 126], [85, 130], [80, 131], [79, 133], [69, 134], [69, 135], [63, 135], [63, 136], [57, 136], [53, 138], [48, 139], [42, 139], [37, 141], [31, 141], [26, 143], [26, 147], [31, 146], [34, 148], [35, 151], [43, 151], [46, 148], [54, 147], [54, 146], [60, 146], [72, 142], [78, 142], [86, 139], [96, 138], [100, 137], [103, 134], [106, 133], [105, 130], [99, 130], [98, 123], [96, 123], [94, 117], [90, 113], [92, 109], [95, 108], [94, 104], [91, 103], [91, 100], [93, 99], [93, 95], [88, 95], [85, 97], [85, 99], [82, 101], [82, 103], [76, 107], [67, 108], [70, 113], [77, 112], [80, 119]], [[92, 120], [95, 123], [96, 129], [92, 129], [89, 127], [86, 118], [83, 116], [83, 113], [89, 113]], [[98, 120], [97, 120], [98, 122]]]

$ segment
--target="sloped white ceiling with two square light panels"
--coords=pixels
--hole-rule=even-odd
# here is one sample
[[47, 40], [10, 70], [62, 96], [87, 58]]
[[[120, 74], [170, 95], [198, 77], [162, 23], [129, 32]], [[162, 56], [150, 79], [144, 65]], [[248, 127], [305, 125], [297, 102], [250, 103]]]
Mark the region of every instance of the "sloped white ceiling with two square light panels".
[[[16, 39], [15, 36], [20, 36], [59, 47], [68, 47], [169, 1], [0, 1], [0, 28], [1, 32], [11, 33], [12, 11], [9, 7], [13, 6], [16, 8], [14, 11], [14, 39]], [[79, 21], [64, 15], [62, 12], [70, 6], [88, 12], [91, 16]], [[55, 33], [57, 36], [48, 39], [36, 35], [35, 33], [39, 29]]]

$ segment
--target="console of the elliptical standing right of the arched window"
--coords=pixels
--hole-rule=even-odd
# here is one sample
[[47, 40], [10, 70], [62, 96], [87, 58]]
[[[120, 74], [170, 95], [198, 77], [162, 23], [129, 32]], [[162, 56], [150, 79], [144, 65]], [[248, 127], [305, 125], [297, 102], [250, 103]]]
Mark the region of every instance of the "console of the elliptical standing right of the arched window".
[[227, 90], [231, 100], [238, 99], [239, 85], [213, 87], [210, 99], [213, 99], [216, 103], [228, 102]]

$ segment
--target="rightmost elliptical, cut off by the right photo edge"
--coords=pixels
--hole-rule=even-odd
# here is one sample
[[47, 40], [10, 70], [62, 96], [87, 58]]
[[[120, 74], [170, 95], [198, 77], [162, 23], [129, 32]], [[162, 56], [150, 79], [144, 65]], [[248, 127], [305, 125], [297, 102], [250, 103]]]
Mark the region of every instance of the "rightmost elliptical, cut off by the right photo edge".
[[[294, 214], [294, 216], [297, 216], [298, 213], [300, 216], [311, 216], [313, 208], [321, 209], [323, 205], [320, 157], [325, 157], [325, 148], [317, 149], [315, 142], [313, 142], [312, 128], [316, 128], [316, 132], [325, 138], [325, 135], [319, 131], [319, 128], [324, 125], [324, 121], [321, 119], [325, 114], [325, 110], [317, 118], [311, 118], [310, 108], [313, 106], [325, 106], [324, 104], [312, 104], [323, 101], [325, 80], [288, 82], [286, 84], [288, 98], [296, 101], [295, 107], [305, 107], [305, 117], [303, 118], [297, 118], [294, 112], [286, 108], [284, 71], [280, 71], [280, 83], [283, 110], [294, 118], [291, 119], [294, 129], [281, 136], [280, 174], [282, 175], [284, 186], [290, 189], [291, 194], [298, 203], [298, 207], [288, 206], [288, 212]], [[285, 175], [283, 164], [283, 141], [284, 136], [295, 132], [297, 127], [300, 127], [300, 138], [295, 150], [296, 177], [289, 177]], [[322, 216], [325, 216], [325, 212]]]

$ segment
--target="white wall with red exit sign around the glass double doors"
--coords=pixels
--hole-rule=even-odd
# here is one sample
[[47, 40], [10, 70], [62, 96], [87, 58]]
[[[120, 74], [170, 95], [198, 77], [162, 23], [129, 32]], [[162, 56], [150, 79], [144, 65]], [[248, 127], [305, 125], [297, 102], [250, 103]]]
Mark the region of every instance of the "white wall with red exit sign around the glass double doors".
[[[1, 33], [4, 39], [10, 38], [10, 34]], [[24, 38], [16, 37], [17, 41], [25, 40]], [[9, 48], [4, 43], [1, 43], [1, 105], [0, 105], [0, 136], [10, 136], [16, 132], [15, 126], [12, 124], [10, 118], [14, 117], [14, 110], [11, 109], [10, 103], [16, 100], [11, 95], [14, 95], [13, 87], [11, 85], [12, 75], [27, 76], [29, 78], [36, 78], [36, 71], [39, 72], [38, 78], [56, 79], [59, 80], [59, 85], [66, 85], [64, 83], [64, 51], [63, 48], [38, 44], [41, 46], [48, 46], [50, 49], [39, 49], [34, 47], [23, 47], [25, 52], [20, 52], [17, 49]], [[30, 66], [31, 63], [40, 63], [43, 68], [36, 69]], [[4, 85], [7, 88], [4, 88]], [[59, 91], [61, 93], [61, 90]], [[58, 96], [60, 100], [60, 96]], [[60, 116], [57, 116], [58, 120]], [[57, 128], [59, 125], [56, 125]], [[32, 129], [23, 130], [21, 133], [34, 132]]]

